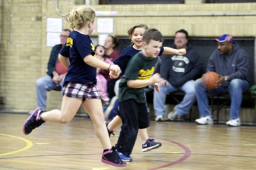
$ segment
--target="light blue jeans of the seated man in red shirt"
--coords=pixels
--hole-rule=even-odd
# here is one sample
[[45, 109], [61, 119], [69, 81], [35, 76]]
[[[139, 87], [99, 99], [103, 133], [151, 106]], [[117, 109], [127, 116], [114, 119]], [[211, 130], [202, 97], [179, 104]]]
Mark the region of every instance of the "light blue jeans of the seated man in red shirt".
[[[61, 94], [62, 94], [62, 86], [64, 83], [64, 78], [62, 79], [61, 83]], [[57, 84], [52, 81], [52, 78], [50, 76], [45, 76], [39, 78], [36, 83], [36, 93], [37, 93], [37, 105], [38, 108], [41, 108], [41, 110], [46, 111], [46, 103], [47, 103], [47, 91], [55, 90], [57, 87]]]

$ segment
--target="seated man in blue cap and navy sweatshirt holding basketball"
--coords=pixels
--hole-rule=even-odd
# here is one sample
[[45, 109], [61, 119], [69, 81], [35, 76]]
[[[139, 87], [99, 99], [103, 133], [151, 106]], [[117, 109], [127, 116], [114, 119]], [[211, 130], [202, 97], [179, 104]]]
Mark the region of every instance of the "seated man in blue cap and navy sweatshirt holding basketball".
[[195, 94], [198, 102], [200, 119], [196, 119], [197, 124], [213, 124], [213, 119], [209, 111], [207, 93], [223, 94], [229, 92], [231, 98], [230, 120], [227, 126], [240, 126], [239, 114], [241, 111], [242, 94], [247, 91], [249, 84], [248, 59], [245, 51], [240, 48], [229, 34], [224, 34], [218, 39], [218, 49], [213, 51], [209, 58], [207, 71], [215, 71], [220, 80], [215, 84], [215, 89], [207, 89], [202, 79], [195, 82]]

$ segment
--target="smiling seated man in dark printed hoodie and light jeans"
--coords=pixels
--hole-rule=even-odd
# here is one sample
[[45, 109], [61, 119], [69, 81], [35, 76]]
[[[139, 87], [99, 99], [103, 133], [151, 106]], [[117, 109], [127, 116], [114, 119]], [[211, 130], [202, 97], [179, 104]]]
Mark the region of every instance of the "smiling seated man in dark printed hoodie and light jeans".
[[186, 48], [185, 55], [163, 55], [161, 61], [158, 60], [154, 72], [160, 72], [164, 78], [160, 85], [160, 93], [154, 89], [154, 111], [155, 121], [163, 122], [166, 102], [166, 95], [174, 91], [184, 91], [183, 100], [177, 104], [174, 110], [168, 114], [171, 121], [183, 120], [183, 116], [189, 113], [195, 98], [195, 79], [202, 74], [202, 62], [198, 53], [188, 43], [187, 31], [181, 29], [176, 31], [174, 45], [172, 48]]

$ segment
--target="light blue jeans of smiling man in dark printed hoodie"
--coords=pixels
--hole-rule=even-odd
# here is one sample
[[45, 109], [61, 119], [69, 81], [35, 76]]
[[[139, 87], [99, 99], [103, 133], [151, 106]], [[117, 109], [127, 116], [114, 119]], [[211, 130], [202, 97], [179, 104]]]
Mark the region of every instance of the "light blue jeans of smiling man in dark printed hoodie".
[[174, 87], [169, 82], [166, 86], [159, 87], [160, 93], [154, 89], [154, 111], [155, 116], [162, 115], [164, 116], [166, 102], [166, 94], [172, 93], [174, 91], [184, 91], [185, 96], [183, 100], [176, 105], [176, 111], [179, 116], [183, 116], [189, 113], [192, 108], [196, 98], [195, 98], [195, 81], [189, 80], [180, 87]]

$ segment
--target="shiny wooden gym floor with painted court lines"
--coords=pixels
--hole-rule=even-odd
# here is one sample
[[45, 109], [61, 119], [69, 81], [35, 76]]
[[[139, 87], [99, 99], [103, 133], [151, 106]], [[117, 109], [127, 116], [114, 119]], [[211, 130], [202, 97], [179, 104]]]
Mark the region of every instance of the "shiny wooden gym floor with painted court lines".
[[[143, 153], [138, 136], [134, 161], [114, 167], [101, 162], [102, 147], [89, 118], [46, 122], [26, 136], [22, 127], [28, 116], [0, 113], [1, 170], [256, 170], [255, 126], [151, 121], [148, 135], [162, 147]], [[114, 130], [112, 145], [119, 131]]]

